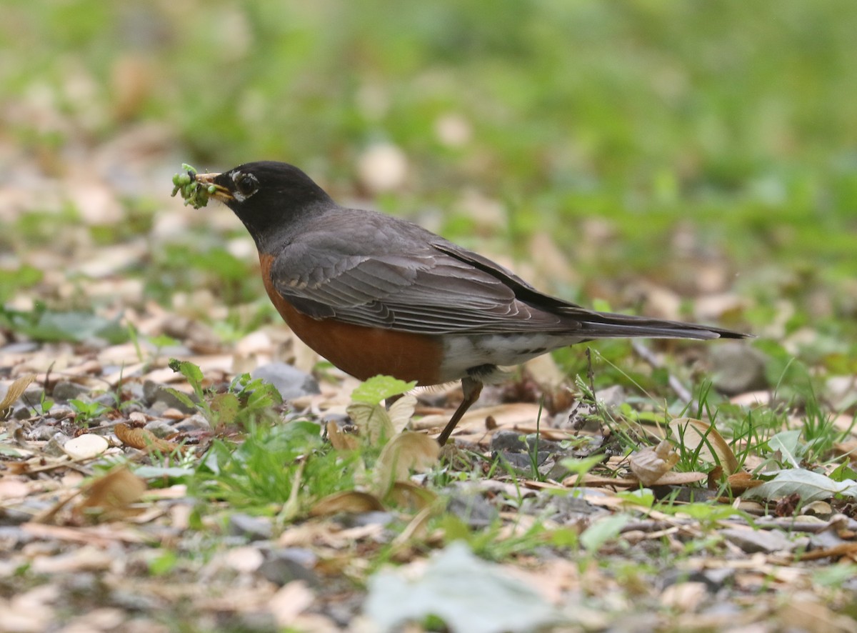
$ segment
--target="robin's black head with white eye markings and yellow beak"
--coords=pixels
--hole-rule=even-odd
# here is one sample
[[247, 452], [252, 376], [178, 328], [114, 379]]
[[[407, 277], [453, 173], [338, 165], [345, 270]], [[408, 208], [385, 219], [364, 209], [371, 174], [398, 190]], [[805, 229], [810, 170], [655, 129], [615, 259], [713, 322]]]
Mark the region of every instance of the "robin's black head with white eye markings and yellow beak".
[[263, 160], [228, 172], [196, 174], [197, 182], [214, 185], [211, 195], [232, 209], [258, 246], [277, 238], [314, 208], [333, 204], [296, 166]]

